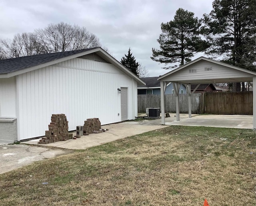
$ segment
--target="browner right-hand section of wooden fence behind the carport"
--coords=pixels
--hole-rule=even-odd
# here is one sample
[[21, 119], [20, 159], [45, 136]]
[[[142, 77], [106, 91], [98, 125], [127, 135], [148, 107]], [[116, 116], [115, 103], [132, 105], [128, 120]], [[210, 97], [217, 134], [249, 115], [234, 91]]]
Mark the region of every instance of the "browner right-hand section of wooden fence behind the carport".
[[252, 115], [252, 92], [206, 92], [201, 113]]

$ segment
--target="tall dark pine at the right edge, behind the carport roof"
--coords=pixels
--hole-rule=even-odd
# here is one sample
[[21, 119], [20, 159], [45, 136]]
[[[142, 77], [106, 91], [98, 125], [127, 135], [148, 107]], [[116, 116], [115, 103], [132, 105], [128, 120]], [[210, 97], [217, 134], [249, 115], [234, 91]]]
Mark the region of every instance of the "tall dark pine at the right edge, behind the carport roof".
[[[253, 44], [256, 1], [214, 0], [212, 6], [210, 14], [204, 14], [202, 28], [212, 45], [207, 53], [223, 57], [226, 63], [255, 70], [252, 54], [256, 48]], [[240, 83], [233, 88], [240, 91]]]

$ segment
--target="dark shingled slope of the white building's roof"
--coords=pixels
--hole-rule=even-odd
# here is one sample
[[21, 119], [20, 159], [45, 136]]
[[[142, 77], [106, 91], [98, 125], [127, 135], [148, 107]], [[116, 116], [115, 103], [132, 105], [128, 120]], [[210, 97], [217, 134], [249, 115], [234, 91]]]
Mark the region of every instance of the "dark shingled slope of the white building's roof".
[[28, 67], [33, 67], [36, 65], [54, 61], [56, 59], [60, 59], [63, 57], [68, 57], [70, 55], [78, 54], [78, 53], [95, 49], [95, 48], [39, 54], [39, 55], [32, 55], [32, 56], [26, 56], [26, 57], [17, 57], [13, 59], [1, 59], [0, 74], [7, 74], [7, 73], [11, 73], [21, 69], [26, 69]]

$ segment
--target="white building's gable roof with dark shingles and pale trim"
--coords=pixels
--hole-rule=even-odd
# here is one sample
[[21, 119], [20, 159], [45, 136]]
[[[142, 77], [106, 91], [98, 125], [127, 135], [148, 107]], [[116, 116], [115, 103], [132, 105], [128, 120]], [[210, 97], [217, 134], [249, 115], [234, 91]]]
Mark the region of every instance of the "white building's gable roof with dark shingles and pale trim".
[[81, 49], [75, 51], [63, 51], [57, 53], [47, 53], [39, 54], [25, 57], [17, 57], [12, 59], [2, 59], [0, 60], [0, 78], [14, 77], [29, 71], [40, 69], [42, 67], [47, 67], [60, 63], [62, 61], [67, 61], [69, 59], [74, 59], [90, 53], [96, 53], [102, 59], [105, 59], [107, 62], [111, 63], [120, 71], [133, 78], [138, 85], [145, 85], [145, 83], [129, 71], [124, 65], [117, 61], [114, 57], [109, 55], [101, 47], [94, 47], [90, 49]]

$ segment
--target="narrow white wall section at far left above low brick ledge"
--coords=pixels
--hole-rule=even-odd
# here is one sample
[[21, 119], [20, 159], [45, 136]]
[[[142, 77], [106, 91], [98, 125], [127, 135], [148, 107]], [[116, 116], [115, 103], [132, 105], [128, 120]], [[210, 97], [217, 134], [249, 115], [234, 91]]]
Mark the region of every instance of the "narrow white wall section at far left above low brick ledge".
[[0, 117], [16, 118], [16, 78], [0, 78]]

